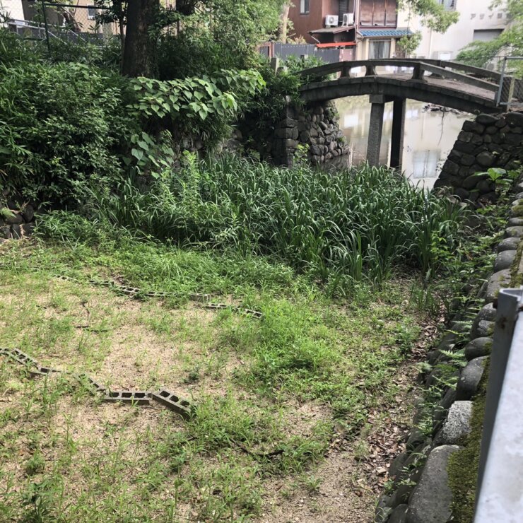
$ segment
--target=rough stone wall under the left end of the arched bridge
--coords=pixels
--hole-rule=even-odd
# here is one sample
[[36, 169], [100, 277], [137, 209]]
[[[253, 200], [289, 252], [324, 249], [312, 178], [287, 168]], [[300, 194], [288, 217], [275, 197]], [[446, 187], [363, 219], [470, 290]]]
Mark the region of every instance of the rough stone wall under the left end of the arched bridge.
[[240, 131], [247, 146], [256, 148], [262, 159], [276, 165], [291, 167], [298, 146], [307, 147], [308, 158], [314, 165], [348, 154], [334, 102], [296, 107], [288, 101], [274, 129], [261, 131], [254, 122], [247, 121]]

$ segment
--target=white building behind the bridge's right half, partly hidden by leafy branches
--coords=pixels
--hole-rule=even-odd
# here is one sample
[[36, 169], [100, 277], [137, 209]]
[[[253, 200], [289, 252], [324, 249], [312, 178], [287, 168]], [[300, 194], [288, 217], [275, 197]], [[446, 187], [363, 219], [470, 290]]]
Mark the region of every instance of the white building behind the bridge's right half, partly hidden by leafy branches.
[[419, 17], [411, 18], [406, 11], [398, 13], [398, 27], [421, 31], [423, 38], [413, 58], [452, 60], [463, 47], [474, 40], [493, 40], [507, 26], [503, 4], [492, 10], [492, 0], [439, 0], [445, 8], [459, 12], [459, 20], [445, 33], [436, 33], [421, 24]]

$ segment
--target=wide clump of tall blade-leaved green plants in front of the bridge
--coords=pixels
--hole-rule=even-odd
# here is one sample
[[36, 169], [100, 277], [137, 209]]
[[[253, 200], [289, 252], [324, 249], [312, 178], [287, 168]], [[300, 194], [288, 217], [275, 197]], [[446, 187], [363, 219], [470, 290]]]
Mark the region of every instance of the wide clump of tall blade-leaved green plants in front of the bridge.
[[245, 158], [185, 158], [143, 187], [122, 180], [90, 214], [159, 240], [269, 254], [328, 284], [382, 283], [395, 264], [437, 266], [464, 209], [368, 165], [329, 174]]

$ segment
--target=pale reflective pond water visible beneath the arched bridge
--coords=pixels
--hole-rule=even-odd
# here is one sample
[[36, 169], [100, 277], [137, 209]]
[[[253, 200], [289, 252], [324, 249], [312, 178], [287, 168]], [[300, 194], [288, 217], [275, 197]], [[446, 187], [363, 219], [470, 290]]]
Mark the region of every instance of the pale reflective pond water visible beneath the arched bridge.
[[[336, 100], [340, 127], [346, 136], [351, 153], [345, 158], [348, 165], [365, 160], [370, 121], [368, 96], [352, 96]], [[433, 187], [448, 153], [469, 114], [453, 111], [432, 111], [427, 104], [407, 100], [403, 170], [414, 184]], [[380, 163], [388, 164], [392, 132], [392, 103], [385, 105]]]

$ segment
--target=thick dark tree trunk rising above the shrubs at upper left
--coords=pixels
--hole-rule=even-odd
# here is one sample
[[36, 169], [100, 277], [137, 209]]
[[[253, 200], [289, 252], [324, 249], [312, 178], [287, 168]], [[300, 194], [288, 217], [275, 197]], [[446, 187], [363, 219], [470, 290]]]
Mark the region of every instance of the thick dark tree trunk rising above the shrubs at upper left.
[[155, 21], [160, 0], [132, 0], [127, 5], [122, 74], [125, 76], [155, 75], [155, 38], [149, 35]]

